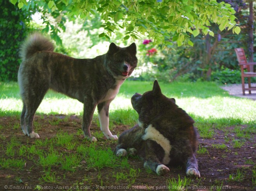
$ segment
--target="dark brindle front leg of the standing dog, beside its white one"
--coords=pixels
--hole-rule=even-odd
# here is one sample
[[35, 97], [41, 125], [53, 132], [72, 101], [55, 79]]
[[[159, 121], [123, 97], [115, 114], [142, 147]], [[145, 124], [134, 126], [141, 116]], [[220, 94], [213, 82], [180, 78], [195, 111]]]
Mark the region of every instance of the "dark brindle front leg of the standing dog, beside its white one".
[[85, 138], [92, 142], [96, 142], [97, 139], [94, 136], [91, 136], [90, 133], [90, 126], [92, 123], [93, 113], [96, 108], [96, 102], [93, 101], [92, 98], [85, 97], [85, 101], [83, 104], [83, 124], [82, 124], [82, 130], [83, 134], [85, 135]]

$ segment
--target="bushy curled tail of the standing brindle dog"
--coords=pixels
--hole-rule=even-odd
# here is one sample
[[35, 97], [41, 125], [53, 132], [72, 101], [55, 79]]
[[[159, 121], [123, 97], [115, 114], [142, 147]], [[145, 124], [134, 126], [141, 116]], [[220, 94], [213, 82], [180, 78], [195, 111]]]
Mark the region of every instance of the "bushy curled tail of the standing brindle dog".
[[37, 51], [53, 51], [54, 44], [42, 34], [35, 32], [30, 34], [28, 38], [21, 44], [19, 55], [22, 61], [28, 59]]

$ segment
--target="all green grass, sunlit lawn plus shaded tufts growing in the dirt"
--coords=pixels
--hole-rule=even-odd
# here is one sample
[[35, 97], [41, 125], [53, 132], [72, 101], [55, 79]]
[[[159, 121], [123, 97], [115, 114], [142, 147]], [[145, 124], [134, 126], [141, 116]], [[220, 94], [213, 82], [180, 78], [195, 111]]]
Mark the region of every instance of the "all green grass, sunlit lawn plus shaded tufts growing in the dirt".
[[[110, 129], [116, 124], [125, 124], [133, 126], [138, 114], [131, 106], [131, 96], [138, 92], [144, 93], [152, 89], [153, 82], [126, 81], [119, 91], [118, 96], [110, 105]], [[174, 97], [176, 104], [182, 107], [192, 116], [195, 126], [199, 130], [200, 137], [210, 139], [216, 135], [214, 130], [222, 130], [225, 135], [225, 127], [234, 127], [233, 133], [236, 139], [225, 139], [225, 143], [231, 143], [234, 148], [241, 148], [245, 140], [249, 140], [256, 133], [256, 102], [249, 99], [231, 97], [227, 92], [220, 89], [213, 82], [185, 83], [175, 82], [171, 84], [160, 83], [163, 94], [167, 97]], [[22, 109], [22, 101], [19, 96], [19, 87], [16, 82], [0, 82], [0, 116], [15, 116], [19, 119]], [[49, 91], [45, 99], [38, 108], [37, 114], [45, 119], [43, 114], [66, 114], [64, 119], [48, 119], [50, 125], [60, 125], [60, 123], [69, 119], [71, 114], [81, 115], [83, 104], [77, 100], [71, 99], [65, 95]], [[93, 119], [97, 118], [97, 111]], [[47, 118], [46, 118], [47, 119]], [[99, 126], [99, 122], [97, 125]], [[76, 123], [76, 122], [74, 122]], [[0, 126], [0, 129], [5, 127]], [[8, 128], [20, 128], [19, 124], [14, 124]], [[35, 129], [43, 128], [39, 123], [35, 123]], [[74, 134], [59, 131], [53, 138], [36, 139], [31, 144], [24, 144], [16, 139], [15, 136], [7, 144], [5, 155], [0, 158], [0, 167], [3, 169], [22, 169], [26, 162], [32, 162], [40, 166], [42, 172], [41, 182], [57, 183], [64, 179], [58, 175], [56, 169], [61, 169], [66, 173], [86, 170], [99, 171], [100, 169], [110, 168], [118, 169], [112, 174], [116, 182], [126, 181], [133, 185], [136, 177], [140, 174], [140, 169], [134, 169], [128, 163], [127, 158], [120, 159], [113, 155], [110, 148], [102, 144], [88, 143], [86, 140], [77, 141], [77, 135], [83, 135], [81, 130]], [[104, 135], [100, 132], [94, 132], [93, 136], [102, 138]], [[0, 135], [3, 141], [5, 136]], [[111, 141], [111, 140], [109, 140]], [[227, 149], [225, 144], [212, 145], [213, 148]], [[210, 150], [210, 149], [209, 149]], [[199, 147], [197, 154], [209, 154], [205, 147]], [[12, 157], [19, 156], [20, 159]], [[226, 157], [223, 155], [223, 157]], [[16, 157], [17, 158], [17, 157]], [[26, 160], [26, 161], [25, 161]], [[248, 164], [252, 164], [250, 160]], [[34, 166], [31, 166], [33, 169]], [[128, 169], [128, 171], [127, 171]], [[99, 171], [98, 179], [102, 181], [102, 175]], [[256, 185], [255, 169], [253, 170], [253, 185]], [[230, 181], [239, 181], [244, 177], [243, 171], [237, 171], [231, 174]], [[65, 176], [65, 175], [64, 175]], [[89, 177], [84, 178], [89, 182]], [[81, 182], [74, 182], [80, 184]], [[191, 183], [191, 179], [184, 178], [168, 179], [169, 186], [182, 188]], [[192, 184], [192, 183], [191, 183]], [[216, 185], [222, 185], [218, 182]], [[103, 185], [103, 182], [102, 182]], [[175, 189], [175, 188], [174, 188]], [[176, 190], [178, 190], [176, 189]]]

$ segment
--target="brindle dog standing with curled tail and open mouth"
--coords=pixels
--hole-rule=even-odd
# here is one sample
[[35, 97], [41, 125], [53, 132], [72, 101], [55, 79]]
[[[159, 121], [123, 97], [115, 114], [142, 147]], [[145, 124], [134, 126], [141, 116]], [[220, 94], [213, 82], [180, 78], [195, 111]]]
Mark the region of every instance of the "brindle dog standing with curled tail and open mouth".
[[109, 131], [109, 104], [137, 66], [135, 43], [125, 48], [111, 43], [106, 54], [92, 59], [76, 59], [53, 50], [52, 42], [39, 33], [32, 34], [22, 44], [18, 82], [24, 134], [39, 138], [33, 131], [34, 115], [47, 90], [53, 89], [84, 104], [82, 129], [86, 138], [97, 141], [90, 134], [97, 106], [104, 135], [118, 139]]

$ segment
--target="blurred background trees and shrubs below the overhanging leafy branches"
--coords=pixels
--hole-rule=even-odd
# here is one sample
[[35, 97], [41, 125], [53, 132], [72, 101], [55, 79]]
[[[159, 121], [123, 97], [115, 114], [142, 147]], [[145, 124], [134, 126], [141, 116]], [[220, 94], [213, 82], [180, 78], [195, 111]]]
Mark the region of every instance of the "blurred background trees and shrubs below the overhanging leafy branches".
[[[17, 80], [21, 60], [19, 46], [33, 31], [42, 31], [56, 42], [55, 51], [75, 58], [94, 58], [107, 52], [110, 42], [118, 46], [137, 44], [138, 67], [130, 80], [154, 80], [163, 82], [217, 81], [222, 84], [240, 83], [240, 68], [234, 48], [244, 48], [248, 55], [248, 3], [243, 0], [225, 0], [234, 7], [239, 35], [232, 31], [220, 31], [211, 24], [214, 37], [199, 34], [191, 41], [194, 46], [158, 45], [147, 36], [126, 39], [125, 29], [102, 36], [102, 20], [97, 12], [90, 19], [81, 19], [63, 12], [42, 12], [34, 3], [24, 11], [8, 0], [0, 0], [0, 81]], [[220, 1], [218, 1], [220, 2]], [[254, 5], [254, 15], [256, 3]], [[254, 18], [254, 26], [255, 26]], [[171, 34], [175, 35], [175, 34]], [[254, 39], [256, 34], [254, 32]], [[254, 45], [254, 52], [256, 47]], [[256, 55], [254, 54], [254, 60]], [[256, 79], [253, 78], [253, 82]]]

